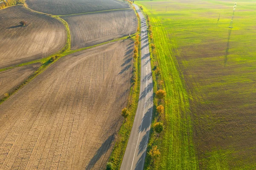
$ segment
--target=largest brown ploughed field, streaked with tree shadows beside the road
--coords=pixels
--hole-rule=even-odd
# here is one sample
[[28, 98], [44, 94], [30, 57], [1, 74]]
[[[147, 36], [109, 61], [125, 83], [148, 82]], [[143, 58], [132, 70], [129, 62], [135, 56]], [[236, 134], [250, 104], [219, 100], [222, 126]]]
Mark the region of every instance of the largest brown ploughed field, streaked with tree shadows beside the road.
[[128, 101], [133, 46], [65, 56], [0, 105], [0, 169], [105, 169]]

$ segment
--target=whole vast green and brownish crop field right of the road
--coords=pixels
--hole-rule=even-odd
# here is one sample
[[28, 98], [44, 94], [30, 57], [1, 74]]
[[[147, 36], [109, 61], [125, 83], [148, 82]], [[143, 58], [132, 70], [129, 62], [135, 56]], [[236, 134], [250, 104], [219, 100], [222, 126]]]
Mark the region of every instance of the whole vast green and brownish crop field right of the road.
[[154, 169], [255, 170], [256, 1], [237, 1], [232, 29], [235, 1], [135, 3], [150, 17], [167, 92]]

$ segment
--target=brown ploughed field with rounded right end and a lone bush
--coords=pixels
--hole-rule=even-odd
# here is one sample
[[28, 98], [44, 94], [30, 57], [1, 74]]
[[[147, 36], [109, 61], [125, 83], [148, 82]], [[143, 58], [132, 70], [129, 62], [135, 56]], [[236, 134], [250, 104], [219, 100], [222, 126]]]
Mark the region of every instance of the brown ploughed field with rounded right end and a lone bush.
[[[20, 21], [27, 22], [21, 26]], [[64, 25], [22, 6], [0, 10], [0, 68], [47, 57], [66, 42]]]

